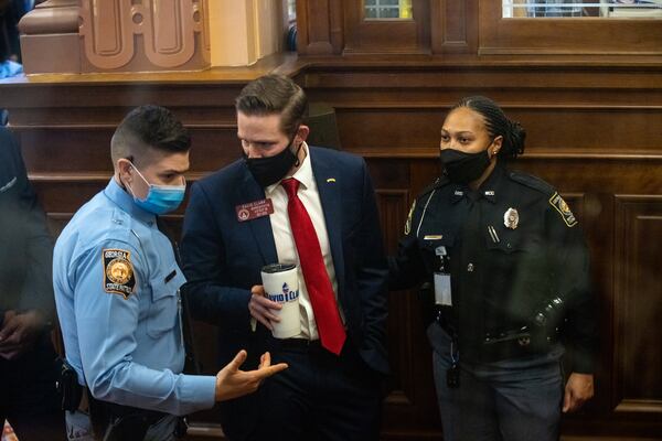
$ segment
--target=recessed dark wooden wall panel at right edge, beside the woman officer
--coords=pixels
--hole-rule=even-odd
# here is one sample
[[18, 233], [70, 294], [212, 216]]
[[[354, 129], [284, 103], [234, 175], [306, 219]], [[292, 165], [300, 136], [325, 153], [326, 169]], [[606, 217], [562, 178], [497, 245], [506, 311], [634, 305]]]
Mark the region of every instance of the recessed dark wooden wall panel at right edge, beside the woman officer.
[[616, 216], [615, 410], [651, 412], [660, 420], [662, 195], [617, 195]]

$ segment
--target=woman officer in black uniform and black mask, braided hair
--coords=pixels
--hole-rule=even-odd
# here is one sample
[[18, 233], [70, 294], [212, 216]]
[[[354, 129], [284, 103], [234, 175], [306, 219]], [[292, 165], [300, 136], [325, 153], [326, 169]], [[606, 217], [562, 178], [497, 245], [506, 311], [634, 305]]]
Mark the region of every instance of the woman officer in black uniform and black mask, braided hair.
[[429, 293], [447, 441], [557, 440], [562, 410], [592, 396], [588, 251], [562, 196], [505, 168], [524, 138], [489, 98], [456, 105], [441, 128], [445, 172], [414, 202], [389, 259], [392, 289], [424, 282]]

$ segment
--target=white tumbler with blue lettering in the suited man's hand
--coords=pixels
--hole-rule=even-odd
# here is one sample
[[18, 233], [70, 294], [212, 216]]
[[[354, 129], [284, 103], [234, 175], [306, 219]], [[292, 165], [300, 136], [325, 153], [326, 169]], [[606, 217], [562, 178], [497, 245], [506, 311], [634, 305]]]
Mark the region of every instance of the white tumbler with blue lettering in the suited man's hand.
[[274, 311], [280, 322], [271, 322], [276, 338], [290, 338], [301, 333], [299, 313], [299, 278], [295, 263], [271, 263], [261, 269], [263, 286], [267, 298], [280, 303], [282, 309]]

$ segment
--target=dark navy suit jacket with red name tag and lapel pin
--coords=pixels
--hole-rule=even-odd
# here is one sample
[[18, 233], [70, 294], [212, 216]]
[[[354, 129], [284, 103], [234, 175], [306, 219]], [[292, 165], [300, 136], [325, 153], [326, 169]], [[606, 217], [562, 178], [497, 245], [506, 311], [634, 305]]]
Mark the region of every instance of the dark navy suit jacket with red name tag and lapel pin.
[[[386, 374], [387, 263], [373, 186], [363, 159], [310, 147], [312, 171], [327, 222], [338, 295], [349, 341], [372, 369]], [[225, 364], [241, 348], [248, 367], [269, 348], [270, 333], [250, 331], [250, 288], [261, 284], [260, 268], [278, 260], [269, 216], [238, 222], [235, 207], [265, 198], [243, 160], [191, 189], [182, 256], [193, 316], [221, 329]]]

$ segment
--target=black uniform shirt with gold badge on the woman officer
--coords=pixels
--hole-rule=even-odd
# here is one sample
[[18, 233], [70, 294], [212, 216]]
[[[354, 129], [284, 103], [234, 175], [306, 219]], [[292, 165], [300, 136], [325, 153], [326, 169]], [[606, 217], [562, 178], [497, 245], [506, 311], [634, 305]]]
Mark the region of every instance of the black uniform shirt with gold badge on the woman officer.
[[392, 288], [430, 281], [448, 252], [452, 322], [462, 358], [484, 362], [489, 335], [532, 326], [552, 299], [563, 300], [563, 334], [574, 372], [592, 372], [595, 305], [588, 251], [577, 220], [546, 182], [499, 164], [478, 191], [439, 179], [414, 203]]

